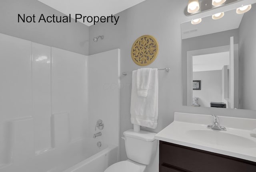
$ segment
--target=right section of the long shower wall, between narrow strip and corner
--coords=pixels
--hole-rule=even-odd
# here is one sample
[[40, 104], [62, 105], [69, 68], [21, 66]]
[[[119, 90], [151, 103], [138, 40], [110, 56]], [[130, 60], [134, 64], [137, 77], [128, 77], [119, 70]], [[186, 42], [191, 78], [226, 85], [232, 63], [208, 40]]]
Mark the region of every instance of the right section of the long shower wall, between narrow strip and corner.
[[84, 55], [52, 48], [52, 113], [68, 113], [70, 140], [88, 134], [88, 88]]

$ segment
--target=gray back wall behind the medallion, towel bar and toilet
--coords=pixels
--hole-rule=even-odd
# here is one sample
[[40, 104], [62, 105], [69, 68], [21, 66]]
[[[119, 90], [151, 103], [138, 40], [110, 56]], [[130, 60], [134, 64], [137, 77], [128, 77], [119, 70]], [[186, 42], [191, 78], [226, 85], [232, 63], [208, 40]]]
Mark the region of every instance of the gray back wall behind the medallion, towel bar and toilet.
[[[131, 47], [141, 35], [150, 34], [158, 40], [160, 49], [156, 60], [148, 67], [170, 67], [170, 72], [159, 72], [159, 117], [158, 127], [148, 131], [159, 132], [173, 121], [174, 111], [215, 114], [223, 116], [256, 118], [256, 111], [182, 106], [182, 57], [181, 23], [187, 22], [184, 15], [186, 0], [146, 0], [137, 6], [117, 14], [117, 25], [98, 23], [90, 26], [89, 54], [110, 49], [121, 49], [121, 72], [132, 71], [141, 66], [131, 58]], [[174, 7], [174, 8], [172, 8]], [[94, 43], [92, 38], [104, 35]], [[130, 122], [130, 98], [132, 76], [121, 76], [120, 135], [132, 128]], [[124, 141], [120, 140], [121, 160], [126, 159]]]

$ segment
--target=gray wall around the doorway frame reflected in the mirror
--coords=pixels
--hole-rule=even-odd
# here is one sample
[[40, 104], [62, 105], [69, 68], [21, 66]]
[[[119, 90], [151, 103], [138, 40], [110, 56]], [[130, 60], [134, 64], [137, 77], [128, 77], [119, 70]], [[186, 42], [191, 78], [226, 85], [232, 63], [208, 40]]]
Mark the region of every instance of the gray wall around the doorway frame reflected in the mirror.
[[238, 29], [202, 35], [182, 40], [182, 104], [187, 104], [187, 51], [230, 45], [230, 37], [234, 36], [234, 44], [238, 43]]

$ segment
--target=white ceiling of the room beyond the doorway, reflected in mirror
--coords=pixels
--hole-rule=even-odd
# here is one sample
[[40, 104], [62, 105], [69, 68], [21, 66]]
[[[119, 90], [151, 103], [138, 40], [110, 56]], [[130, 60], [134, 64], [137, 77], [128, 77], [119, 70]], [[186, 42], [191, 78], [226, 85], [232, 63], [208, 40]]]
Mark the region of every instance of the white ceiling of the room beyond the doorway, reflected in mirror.
[[229, 65], [229, 52], [193, 56], [193, 72], [222, 70]]

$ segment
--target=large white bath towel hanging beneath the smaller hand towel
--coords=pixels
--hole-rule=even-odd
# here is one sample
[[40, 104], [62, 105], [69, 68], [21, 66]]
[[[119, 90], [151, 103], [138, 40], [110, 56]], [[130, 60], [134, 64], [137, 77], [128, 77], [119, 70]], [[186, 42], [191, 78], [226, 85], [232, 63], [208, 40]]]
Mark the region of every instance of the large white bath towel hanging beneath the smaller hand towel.
[[131, 122], [132, 124], [156, 129], [158, 119], [158, 69], [150, 74], [148, 96], [137, 95], [137, 71], [132, 71]]

